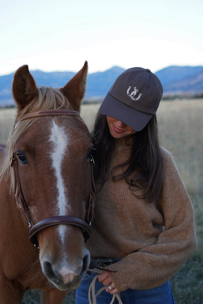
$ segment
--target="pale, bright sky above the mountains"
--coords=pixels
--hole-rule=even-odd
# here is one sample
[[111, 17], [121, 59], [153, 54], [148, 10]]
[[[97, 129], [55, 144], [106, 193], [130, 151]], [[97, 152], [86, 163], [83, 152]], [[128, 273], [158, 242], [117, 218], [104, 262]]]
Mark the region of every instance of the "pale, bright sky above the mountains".
[[0, 10], [0, 75], [89, 73], [112, 66], [156, 72], [203, 65], [202, 0], [7, 0]]

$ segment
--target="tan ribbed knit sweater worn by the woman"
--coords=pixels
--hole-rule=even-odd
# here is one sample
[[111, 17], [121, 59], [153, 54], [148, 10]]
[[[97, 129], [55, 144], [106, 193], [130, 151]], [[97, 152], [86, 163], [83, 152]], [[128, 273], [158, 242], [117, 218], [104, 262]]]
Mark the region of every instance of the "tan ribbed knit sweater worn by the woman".
[[[124, 179], [109, 179], [97, 189], [95, 219], [86, 244], [91, 258], [123, 257], [106, 267], [116, 271], [111, 276], [119, 292], [163, 284], [196, 248], [190, 198], [172, 155], [161, 149], [163, 191], [157, 204], [134, 196]], [[111, 168], [128, 157], [129, 148], [118, 144]]]

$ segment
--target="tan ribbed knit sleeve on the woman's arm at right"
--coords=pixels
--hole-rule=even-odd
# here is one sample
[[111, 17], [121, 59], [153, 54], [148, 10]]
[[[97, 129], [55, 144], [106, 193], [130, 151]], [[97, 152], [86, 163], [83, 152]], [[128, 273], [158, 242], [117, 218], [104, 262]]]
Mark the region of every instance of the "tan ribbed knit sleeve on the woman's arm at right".
[[119, 292], [150, 289], [170, 279], [196, 248], [194, 212], [172, 155], [163, 150], [163, 186], [159, 206], [164, 231], [156, 243], [123, 257], [106, 269]]

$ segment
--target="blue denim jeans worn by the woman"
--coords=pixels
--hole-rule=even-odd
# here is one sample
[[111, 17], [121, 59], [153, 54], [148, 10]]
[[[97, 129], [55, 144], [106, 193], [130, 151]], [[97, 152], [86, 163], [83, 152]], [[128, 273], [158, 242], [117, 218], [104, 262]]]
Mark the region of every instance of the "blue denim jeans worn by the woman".
[[[79, 288], [76, 290], [75, 304], [89, 304], [88, 290], [89, 286], [96, 274], [87, 273], [83, 278]], [[96, 281], [95, 292], [104, 287], [102, 283]], [[123, 304], [175, 304], [171, 283], [165, 282], [159, 287], [145, 290], [127, 289], [120, 292], [120, 297]], [[112, 295], [105, 290], [97, 297], [97, 304], [109, 304], [112, 300]], [[118, 300], [115, 299], [115, 304]]]

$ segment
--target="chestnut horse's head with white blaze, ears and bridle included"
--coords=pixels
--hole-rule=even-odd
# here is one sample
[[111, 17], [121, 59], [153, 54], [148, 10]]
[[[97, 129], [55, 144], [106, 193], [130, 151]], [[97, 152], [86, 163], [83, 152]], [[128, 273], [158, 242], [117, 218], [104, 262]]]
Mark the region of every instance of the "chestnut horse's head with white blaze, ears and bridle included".
[[84, 232], [92, 143], [79, 116], [86, 78], [87, 62], [60, 90], [38, 88], [26, 65], [13, 81], [13, 187], [31, 240], [40, 248], [43, 273], [60, 290], [77, 288], [90, 260]]

